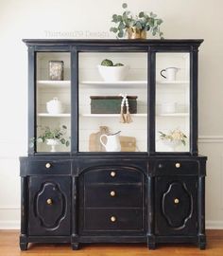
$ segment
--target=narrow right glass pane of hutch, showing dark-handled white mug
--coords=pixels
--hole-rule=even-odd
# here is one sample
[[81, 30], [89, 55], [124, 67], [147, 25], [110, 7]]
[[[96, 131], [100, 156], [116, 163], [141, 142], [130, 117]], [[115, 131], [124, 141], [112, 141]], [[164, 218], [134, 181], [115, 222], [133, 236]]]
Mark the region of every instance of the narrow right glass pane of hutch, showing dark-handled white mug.
[[190, 55], [156, 55], [156, 151], [189, 152]]

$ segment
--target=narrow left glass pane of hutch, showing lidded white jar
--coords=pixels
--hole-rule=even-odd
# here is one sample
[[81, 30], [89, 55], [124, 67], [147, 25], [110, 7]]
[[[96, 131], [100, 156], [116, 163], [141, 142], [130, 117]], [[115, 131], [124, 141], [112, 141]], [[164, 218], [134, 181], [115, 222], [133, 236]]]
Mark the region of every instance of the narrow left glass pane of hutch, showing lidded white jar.
[[70, 151], [70, 77], [70, 53], [37, 53], [37, 152]]

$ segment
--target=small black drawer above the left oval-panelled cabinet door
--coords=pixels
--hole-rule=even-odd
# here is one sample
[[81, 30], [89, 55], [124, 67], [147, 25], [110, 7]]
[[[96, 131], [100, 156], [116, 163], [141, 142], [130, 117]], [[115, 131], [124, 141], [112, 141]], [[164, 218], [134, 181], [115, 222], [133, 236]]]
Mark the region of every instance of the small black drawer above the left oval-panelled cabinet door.
[[30, 160], [28, 161], [27, 174], [71, 174], [70, 160]]

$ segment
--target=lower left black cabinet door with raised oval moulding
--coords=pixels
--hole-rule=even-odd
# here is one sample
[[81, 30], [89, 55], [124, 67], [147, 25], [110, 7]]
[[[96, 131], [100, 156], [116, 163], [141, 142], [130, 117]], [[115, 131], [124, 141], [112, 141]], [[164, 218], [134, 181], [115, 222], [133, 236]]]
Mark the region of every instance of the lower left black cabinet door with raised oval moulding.
[[70, 234], [70, 177], [29, 179], [29, 234]]

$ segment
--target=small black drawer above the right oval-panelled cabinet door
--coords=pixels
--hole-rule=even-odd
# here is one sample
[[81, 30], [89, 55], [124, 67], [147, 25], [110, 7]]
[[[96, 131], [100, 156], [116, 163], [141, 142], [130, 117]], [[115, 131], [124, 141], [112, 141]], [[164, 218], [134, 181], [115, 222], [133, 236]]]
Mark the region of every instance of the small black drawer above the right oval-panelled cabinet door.
[[159, 160], [155, 164], [155, 174], [157, 175], [198, 174], [198, 170], [197, 161]]

